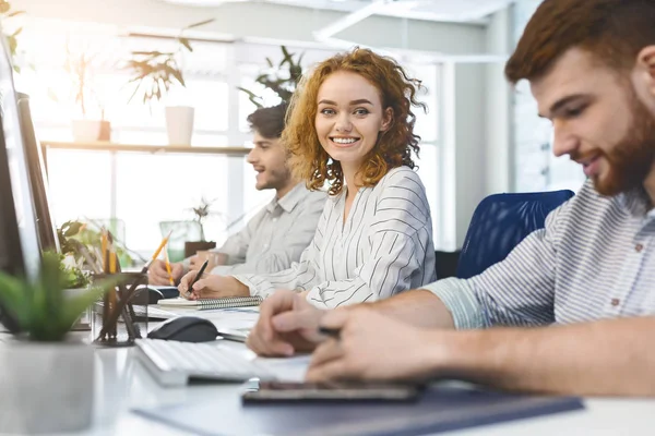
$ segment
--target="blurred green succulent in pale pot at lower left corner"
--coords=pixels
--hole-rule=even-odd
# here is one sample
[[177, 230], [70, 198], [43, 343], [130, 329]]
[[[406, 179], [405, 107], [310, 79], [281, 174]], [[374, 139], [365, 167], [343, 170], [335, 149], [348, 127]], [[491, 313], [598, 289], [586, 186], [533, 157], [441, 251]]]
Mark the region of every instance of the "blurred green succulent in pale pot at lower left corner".
[[0, 272], [0, 303], [19, 332], [0, 347], [0, 433], [70, 433], [91, 425], [94, 350], [69, 335], [87, 307], [116, 284], [68, 294], [69, 274], [45, 253], [35, 282]]

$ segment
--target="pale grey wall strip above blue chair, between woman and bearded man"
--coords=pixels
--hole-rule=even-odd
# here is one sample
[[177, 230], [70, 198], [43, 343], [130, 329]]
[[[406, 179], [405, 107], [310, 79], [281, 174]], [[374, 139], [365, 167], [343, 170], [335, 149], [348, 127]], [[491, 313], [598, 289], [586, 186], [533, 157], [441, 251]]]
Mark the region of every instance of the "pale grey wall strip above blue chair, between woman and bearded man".
[[[493, 14], [485, 51], [504, 58], [512, 48], [510, 31], [510, 10]], [[504, 61], [450, 63], [445, 70], [443, 249], [455, 250], [464, 242], [478, 203], [512, 191], [512, 94]]]

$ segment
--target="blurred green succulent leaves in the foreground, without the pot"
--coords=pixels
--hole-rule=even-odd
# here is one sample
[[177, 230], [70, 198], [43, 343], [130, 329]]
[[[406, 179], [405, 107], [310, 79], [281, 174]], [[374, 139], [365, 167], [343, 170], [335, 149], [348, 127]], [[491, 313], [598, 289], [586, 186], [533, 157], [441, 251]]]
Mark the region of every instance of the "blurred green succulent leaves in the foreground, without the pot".
[[34, 283], [0, 272], [0, 302], [29, 340], [57, 342], [62, 341], [80, 315], [119, 280], [120, 277], [115, 277], [78, 295], [67, 295], [69, 277], [60, 267], [59, 255], [44, 253], [39, 278]]

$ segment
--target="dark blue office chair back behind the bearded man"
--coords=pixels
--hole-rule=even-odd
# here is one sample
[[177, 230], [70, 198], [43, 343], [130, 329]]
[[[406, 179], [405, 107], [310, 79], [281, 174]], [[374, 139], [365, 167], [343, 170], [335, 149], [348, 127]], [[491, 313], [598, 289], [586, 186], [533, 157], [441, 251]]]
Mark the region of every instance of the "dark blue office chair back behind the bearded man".
[[504, 259], [523, 238], [544, 228], [546, 216], [573, 196], [569, 190], [493, 194], [473, 213], [457, 264], [457, 277], [477, 276]]

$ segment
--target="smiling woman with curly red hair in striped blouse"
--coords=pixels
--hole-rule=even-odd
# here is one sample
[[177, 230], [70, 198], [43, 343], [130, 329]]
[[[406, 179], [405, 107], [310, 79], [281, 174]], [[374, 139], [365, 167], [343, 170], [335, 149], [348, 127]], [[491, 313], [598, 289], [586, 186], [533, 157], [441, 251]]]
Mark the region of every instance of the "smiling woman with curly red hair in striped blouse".
[[393, 59], [356, 48], [317, 65], [294, 94], [282, 141], [290, 167], [330, 198], [313, 241], [291, 268], [207, 276], [188, 298], [267, 296], [293, 289], [319, 307], [389, 298], [434, 280], [432, 222], [414, 171], [418, 81]]

